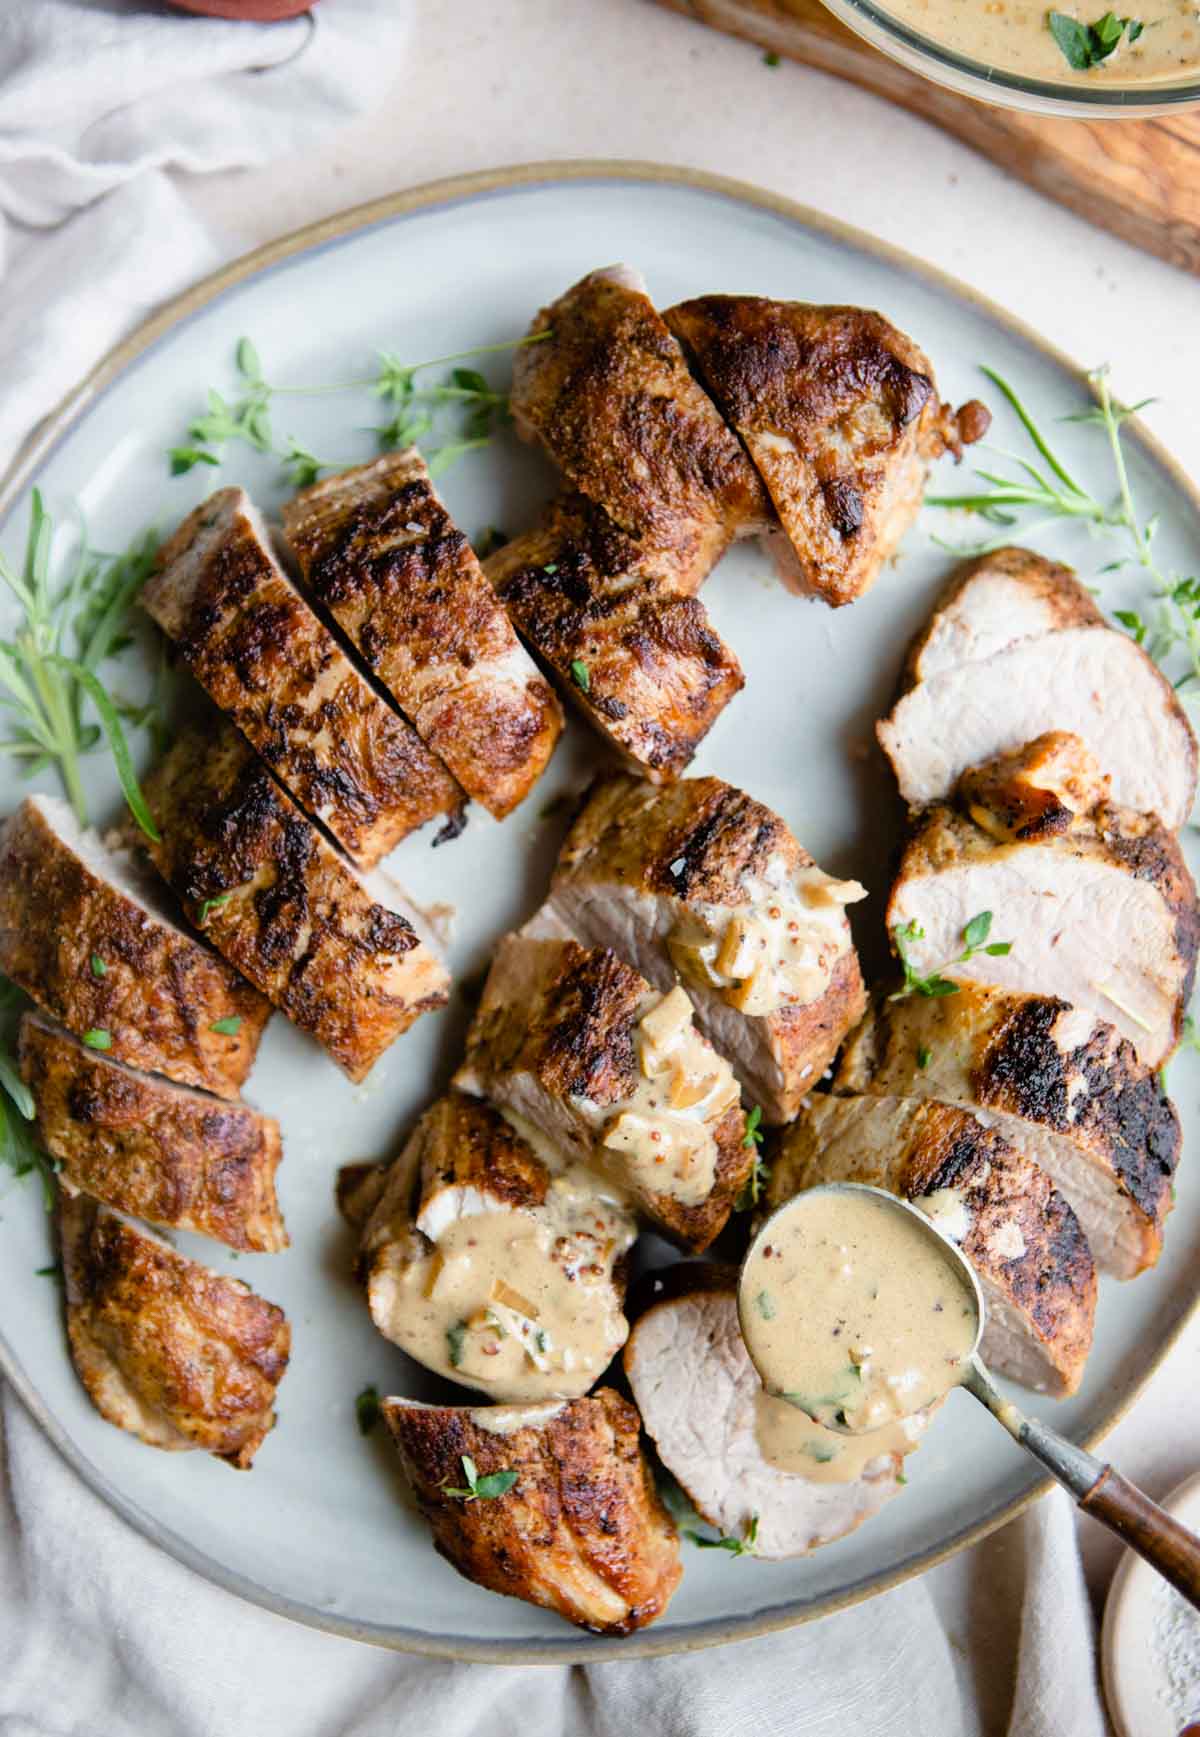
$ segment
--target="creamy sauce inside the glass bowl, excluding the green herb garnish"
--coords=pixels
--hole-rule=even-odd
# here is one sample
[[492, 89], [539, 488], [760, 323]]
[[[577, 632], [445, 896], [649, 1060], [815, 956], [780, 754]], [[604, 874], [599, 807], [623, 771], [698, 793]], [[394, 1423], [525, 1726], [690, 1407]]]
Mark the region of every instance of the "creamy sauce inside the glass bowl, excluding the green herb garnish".
[[1047, 26], [1051, 10], [1096, 24], [1106, 0], [1058, 5], [1037, 0], [879, 0], [879, 10], [943, 49], [983, 66], [1047, 83], [1165, 85], [1200, 73], [1200, 14], [1195, 0], [1148, 0], [1129, 14], [1143, 31], [1127, 35], [1094, 66], [1077, 71]]

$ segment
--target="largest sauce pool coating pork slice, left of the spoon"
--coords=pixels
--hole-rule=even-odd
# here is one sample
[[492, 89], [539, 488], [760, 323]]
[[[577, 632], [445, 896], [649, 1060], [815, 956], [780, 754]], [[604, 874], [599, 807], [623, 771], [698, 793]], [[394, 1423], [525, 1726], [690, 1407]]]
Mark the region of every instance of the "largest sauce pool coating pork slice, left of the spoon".
[[570, 1167], [535, 1209], [448, 1218], [429, 1252], [396, 1273], [396, 1343], [497, 1398], [585, 1393], [629, 1332], [613, 1266], [636, 1226], [606, 1193]]

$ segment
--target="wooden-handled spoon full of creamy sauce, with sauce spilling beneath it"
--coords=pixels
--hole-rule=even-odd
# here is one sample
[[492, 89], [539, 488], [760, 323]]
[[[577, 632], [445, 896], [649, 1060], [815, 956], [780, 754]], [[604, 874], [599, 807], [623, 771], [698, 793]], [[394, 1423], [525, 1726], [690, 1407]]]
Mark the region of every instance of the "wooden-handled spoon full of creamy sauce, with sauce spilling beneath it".
[[[903, 1454], [913, 1421], [960, 1386], [1200, 1608], [1200, 1539], [1000, 1393], [979, 1358], [986, 1303], [974, 1268], [919, 1207], [863, 1183], [787, 1200], [742, 1263], [738, 1322], [762, 1381], [759, 1445], [781, 1470], [811, 1478], [813, 1463], [820, 1475], [842, 1457]], [[814, 1452], [814, 1440], [830, 1445]]]

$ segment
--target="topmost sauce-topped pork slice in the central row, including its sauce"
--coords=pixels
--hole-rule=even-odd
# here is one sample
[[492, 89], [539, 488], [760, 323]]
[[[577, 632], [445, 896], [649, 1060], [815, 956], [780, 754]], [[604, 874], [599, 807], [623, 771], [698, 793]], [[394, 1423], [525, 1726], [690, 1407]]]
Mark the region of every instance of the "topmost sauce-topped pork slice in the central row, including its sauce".
[[559, 853], [552, 910], [655, 988], [679, 976], [696, 1025], [768, 1122], [788, 1122], [865, 1007], [846, 905], [778, 815], [722, 783], [601, 780]]

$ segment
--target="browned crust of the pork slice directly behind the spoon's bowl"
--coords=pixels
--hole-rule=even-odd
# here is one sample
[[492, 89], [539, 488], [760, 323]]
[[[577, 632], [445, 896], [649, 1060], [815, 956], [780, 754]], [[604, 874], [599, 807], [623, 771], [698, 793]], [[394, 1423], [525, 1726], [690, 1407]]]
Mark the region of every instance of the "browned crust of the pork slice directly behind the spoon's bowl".
[[[847, 1103], [825, 1100], [830, 1101]], [[971, 1219], [962, 1252], [1019, 1310], [1061, 1391], [1073, 1393], [1084, 1374], [1096, 1315], [1096, 1266], [1075, 1212], [1045, 1171], [1021, 1157], [995, 1129], [983, 1127], [969, 1110], [931, 1100], [905, 1108], [898, 1145], [870, 1159], [860, 1155], [854, 1176], [839, 1167], [839, 1178], [874, 1183], [907, 1200], [941, 1188], [957, 1190]], [[827, 1138], [818, 1101], [814, 1113], [795, 1122], [783, 1138], [771, 1171], [771, 1205], [827, 1179], [821, 1164]], [[1005, 1258], [997, 1251], [1007, 1245], [1014, 1225], [1023, 1252]]]

